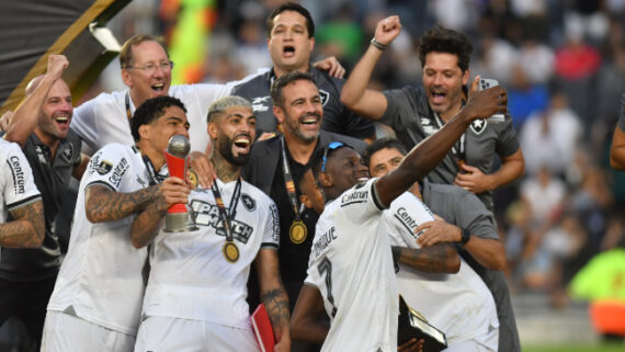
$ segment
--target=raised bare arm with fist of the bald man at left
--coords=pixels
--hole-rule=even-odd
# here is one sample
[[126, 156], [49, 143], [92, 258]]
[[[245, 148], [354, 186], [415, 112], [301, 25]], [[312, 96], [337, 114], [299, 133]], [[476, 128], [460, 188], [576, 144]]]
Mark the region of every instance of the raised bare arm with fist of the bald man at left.
[[22, 105], [15, 110], [9, 122], [4, 139], [24, 147], [26, 139], [39, 123], [39, 112], [53, 84], [60, 79], [69, 61], [64, 55], [49, 55], [46, 75], [39, 79], [33, 92], [27, 92]]

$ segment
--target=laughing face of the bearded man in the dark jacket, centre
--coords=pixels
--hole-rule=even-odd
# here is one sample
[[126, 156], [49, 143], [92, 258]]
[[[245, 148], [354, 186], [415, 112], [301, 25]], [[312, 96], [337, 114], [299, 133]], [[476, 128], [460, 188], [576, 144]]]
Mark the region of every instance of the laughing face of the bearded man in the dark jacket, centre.
[[273, 107], [287, 137], [314, 141], [321, 129], [323, 105], [319, 89], [309, 80], [296, 80], [282, 90], [283, 106]]

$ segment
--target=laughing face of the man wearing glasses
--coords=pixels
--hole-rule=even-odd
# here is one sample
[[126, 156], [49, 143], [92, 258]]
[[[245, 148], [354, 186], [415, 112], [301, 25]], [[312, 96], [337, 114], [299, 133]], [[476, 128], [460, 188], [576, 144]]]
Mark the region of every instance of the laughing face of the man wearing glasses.
[[[122, 70], [124, 84], [130, 89], [130, 96], [135, 106], [139, 106], [146, 100], [169, 93], [171, 84], [171, 66], [167, 66], [169, 57], [162, 46], [154, 41], [141, 42], [134, 45], [133, 63], [129, 68]], [[154, 67], [155, 69], [144, 69]]]

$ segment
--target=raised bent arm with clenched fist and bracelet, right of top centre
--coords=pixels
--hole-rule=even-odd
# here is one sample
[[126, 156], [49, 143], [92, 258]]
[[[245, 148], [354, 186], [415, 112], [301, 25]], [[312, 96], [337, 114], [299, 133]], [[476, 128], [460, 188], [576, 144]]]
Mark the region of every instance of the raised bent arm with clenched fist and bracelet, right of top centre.
[[366, 87], [384, 48], [399, 35], [400, 31], [401, 23], [399, 23], [397, 15], [379, 21], [375, 29], [375, 44], [372, 43], [368, 46], [345, 81], [345, 86], [343, 86], [341, 102], [363, 117], [379, 120], [386, 111], [388, 104], [386, 96], [382, 92], [366, 89]]

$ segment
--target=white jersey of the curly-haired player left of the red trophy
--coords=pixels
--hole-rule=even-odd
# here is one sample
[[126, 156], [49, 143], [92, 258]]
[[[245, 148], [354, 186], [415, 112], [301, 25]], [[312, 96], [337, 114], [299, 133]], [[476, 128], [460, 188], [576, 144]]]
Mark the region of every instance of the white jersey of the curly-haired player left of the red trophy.
[[[99, 150], [80, 182], [69, 251], [48, 304], [48, 310], [76, 316], [111, 330], [136, 334], [145, 280], [147, 250], [130, 242], [134, 216], [93, 224], [87, 219], [84, 192], [102, 184], [130, 193], [149, 184], [139, 152], [118, 144]], [[72, 309], [71, 309], [72, 308]]]

